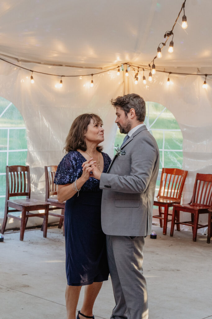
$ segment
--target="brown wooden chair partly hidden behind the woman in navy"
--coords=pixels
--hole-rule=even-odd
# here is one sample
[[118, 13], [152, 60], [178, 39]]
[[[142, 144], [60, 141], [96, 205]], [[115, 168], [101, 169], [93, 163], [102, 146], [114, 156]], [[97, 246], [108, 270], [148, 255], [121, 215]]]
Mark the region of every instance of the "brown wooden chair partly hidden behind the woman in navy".
[[[58, 228], [61, 228], [63, 225], [63, 235], [64, 235], [64, 211], [65, 211], [65, 202], [58, 202], [57, 198], [52, 196], [57, 196], [57, 185], [54, 184], [54, 176], [57, 171], [57, 166], [45, 166], [45, 180], [46, 180], [46, 202], [50, 203], [49, 215], [59, 217]], [[52, 213], [51, 211], [61, 209], [61, 214]]]

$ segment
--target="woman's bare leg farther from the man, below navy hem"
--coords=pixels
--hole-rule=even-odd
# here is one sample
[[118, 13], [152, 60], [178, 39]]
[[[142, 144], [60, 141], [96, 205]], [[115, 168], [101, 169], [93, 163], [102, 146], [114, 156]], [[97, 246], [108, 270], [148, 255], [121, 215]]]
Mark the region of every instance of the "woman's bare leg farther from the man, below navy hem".
[[66, 286], [65, 303], [67, 310], [67, 319], [76, 319], [76, 310], [81, 288], [82, 286]]

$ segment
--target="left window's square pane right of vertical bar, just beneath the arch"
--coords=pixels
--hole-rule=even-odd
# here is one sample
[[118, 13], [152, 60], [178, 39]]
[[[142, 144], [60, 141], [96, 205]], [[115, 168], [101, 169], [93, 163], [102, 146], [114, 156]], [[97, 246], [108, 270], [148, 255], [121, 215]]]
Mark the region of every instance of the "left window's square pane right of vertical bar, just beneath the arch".
[[27, 149], [26, 130], [10, 129], [9, 150]]

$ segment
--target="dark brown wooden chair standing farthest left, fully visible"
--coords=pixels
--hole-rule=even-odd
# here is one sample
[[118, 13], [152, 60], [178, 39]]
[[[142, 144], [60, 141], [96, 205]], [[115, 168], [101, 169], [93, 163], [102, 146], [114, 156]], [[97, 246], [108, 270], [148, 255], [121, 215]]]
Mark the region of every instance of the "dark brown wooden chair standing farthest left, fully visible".
[[[30, 198], [30, 167], [29, 166], [6, 166], [6, 200], [4, 220], [1, 232], [5, 231], [8, 217], [21, 221], [20, 240], [24, 239], [24, 230], [29, 217], [41, 217], [44, 219], [43, 233], [47, 234], [49, 203]], [[22, 199], [10, 200], [10, 197], [26, 196]], [[13, 208], [9, 210], [9, 207]], [[29, 211], [44, 210], [44, 213], [29, 213]], [[10, 215], [11, 212], [21, 211], [21, 217]]]

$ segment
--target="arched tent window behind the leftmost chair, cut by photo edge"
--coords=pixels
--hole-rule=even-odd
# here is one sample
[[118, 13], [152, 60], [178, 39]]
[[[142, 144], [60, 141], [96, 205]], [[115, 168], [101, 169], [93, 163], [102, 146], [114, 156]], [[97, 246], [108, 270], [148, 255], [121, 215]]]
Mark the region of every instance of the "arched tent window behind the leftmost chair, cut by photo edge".
[[0, 97], [0, 218], [4, 216], [6, 165], [26, 165], [27, 140], [23, 117], [12, 102]]

